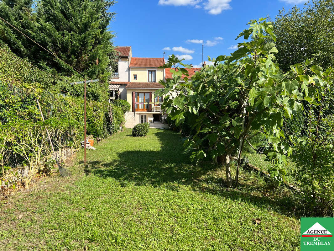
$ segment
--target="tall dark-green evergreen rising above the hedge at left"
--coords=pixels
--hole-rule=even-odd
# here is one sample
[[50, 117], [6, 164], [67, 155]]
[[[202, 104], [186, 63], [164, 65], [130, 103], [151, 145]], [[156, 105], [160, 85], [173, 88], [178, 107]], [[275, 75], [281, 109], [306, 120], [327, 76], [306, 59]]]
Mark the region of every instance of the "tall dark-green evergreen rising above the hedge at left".
[[[4, 0], [0, 15], [41, 46], [90, 78], [107, 80], [114, 59], [108, 31], [114, 0]], [[0, 39], [18, 56], [53, 73], [72, 75], [69, 66], [0, 21]]]

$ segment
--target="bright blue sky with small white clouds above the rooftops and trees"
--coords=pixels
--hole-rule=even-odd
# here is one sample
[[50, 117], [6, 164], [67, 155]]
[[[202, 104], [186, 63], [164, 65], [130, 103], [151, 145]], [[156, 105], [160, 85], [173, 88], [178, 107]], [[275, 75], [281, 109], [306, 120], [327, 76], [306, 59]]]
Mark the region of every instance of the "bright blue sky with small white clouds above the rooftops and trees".
[[[303, 7], [306, 0], [119, 0], [111, 11], [111, 23], [117, 37], [116, 46], [132, 46], [133, 57], [184, 55], [185, 63], [201, 65], [219, 55], [230, 55], [237, 43], [235, 37], [251, 19], [269, 15], [283, 7]], [[234, 48], [234, 49], [233, 49]]]

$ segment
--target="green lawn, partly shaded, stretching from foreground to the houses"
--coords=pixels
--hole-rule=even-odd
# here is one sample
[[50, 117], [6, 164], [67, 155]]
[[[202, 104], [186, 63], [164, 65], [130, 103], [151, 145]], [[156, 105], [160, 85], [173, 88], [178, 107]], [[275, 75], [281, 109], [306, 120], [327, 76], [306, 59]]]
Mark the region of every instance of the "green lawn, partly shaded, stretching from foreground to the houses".
[[[290, 193], [241, 170], [190, 163], [180, 136], [117, 133], [0, 205], [3, 250], [299, 250]], [[255, 220], [261, 221], [256, 224]]]

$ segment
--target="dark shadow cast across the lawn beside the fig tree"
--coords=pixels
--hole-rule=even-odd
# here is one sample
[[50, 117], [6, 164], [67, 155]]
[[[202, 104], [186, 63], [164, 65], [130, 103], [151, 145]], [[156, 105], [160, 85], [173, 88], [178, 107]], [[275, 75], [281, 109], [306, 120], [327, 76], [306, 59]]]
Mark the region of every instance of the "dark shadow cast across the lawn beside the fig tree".
[[[241, 200], [288, 216], [293, 214], [295, 203], [289, 194], [275, 198], [275, 200], [270, 196], [261, 195], [263, 191], [276, 189], [273, 184], [241, 184], [237, 189], [228, 189], [222, 178], [202, 177], [209, 171], [221, 167], [209, 162], [202, 162], [200, 165], [192, 164], [189, 155], [182, 153], [183, 147], [178, 134], [157, 132], [155, 135], [162, 144], [160, 151], [124, 151], [118, 153], [118, 159], [113, 162], [89, 161], [85, 173], [112, 177], [121, 184], [131, 182], [136, 185], [151, 184], [156, 187], [164, 185], [172, 190], [178, 189], [178, 185], [173, 183], [186, 184], [200, 192]], [[132, 135], [127, 136], [132, 137]], [[203, 183], [206, 185], [203, 186]], [[252, 185], [253, 191], [256, 190], [258, 195], [252, 194], [249, 189], [249, 186]]]

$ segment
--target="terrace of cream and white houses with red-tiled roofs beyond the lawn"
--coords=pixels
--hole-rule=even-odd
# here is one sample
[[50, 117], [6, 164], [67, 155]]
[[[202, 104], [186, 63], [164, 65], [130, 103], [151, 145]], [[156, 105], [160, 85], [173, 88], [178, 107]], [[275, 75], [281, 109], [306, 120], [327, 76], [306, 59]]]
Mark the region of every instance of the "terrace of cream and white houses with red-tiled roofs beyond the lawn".
[[[133, 128], [144, 122], [149, 122], [151, 127], [164, 127], [162, 120], [167, 114], [161, 110], [163, 97], [154, 97], [154, 94], [164, 87], [160, 80], [172, 78], [172, 68], [159, 68], [165, 64], [164, 58], [132, 57], [130, 46], [116, 47], [116, 51], [119, 60], [109, 82], [110, 100], [125, 99], [131, 104], [131, 110], [125, 113], [125, 127]], [[188, 78], [200, 69], [187, 69]], [[184, 77], [182, 75], [182, 80]]]

